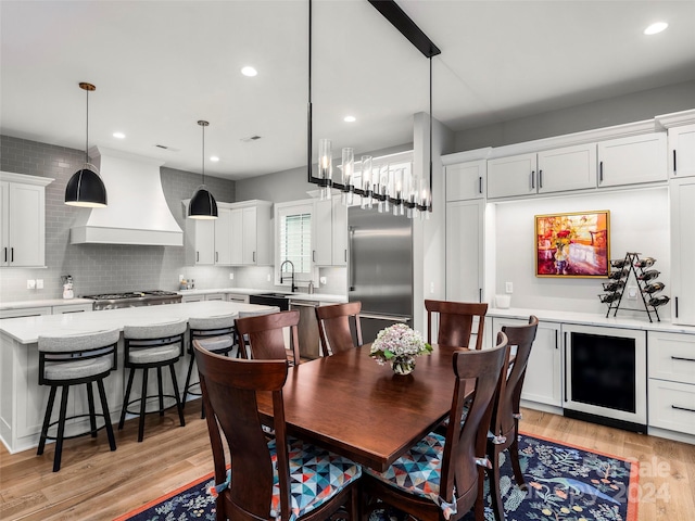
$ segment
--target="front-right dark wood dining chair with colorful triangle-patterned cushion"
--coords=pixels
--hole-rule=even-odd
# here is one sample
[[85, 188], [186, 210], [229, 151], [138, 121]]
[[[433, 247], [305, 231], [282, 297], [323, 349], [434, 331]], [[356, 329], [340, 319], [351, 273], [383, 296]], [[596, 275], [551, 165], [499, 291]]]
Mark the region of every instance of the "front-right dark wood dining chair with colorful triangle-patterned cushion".
[[[492, 405], [509, 350], [500, 332], [489, 350], [454, 352], [454, 392], [446, 434], [429, 433], [384, 472], [364, 468], [363, 519], [383, 504], [421, 521], [462, 519], [475, 507], [476, 520], [484, 519], [483, 468]], [[467, 419], [464, 410], [466, 381], [475, 381]]]

